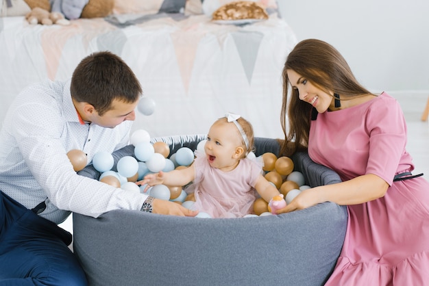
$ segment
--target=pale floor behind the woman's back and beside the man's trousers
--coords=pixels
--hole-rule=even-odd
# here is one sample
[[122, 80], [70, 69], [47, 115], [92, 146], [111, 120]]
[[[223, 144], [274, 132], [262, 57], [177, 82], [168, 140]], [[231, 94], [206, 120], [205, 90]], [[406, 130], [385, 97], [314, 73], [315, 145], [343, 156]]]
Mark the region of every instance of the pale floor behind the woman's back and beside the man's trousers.
[[[413, 156], [415, 171], [413, 174], [423, 172], [429, 179], [429, 122], [421, 121], [424, 111], [426, 94], [392, 94], [401, 104], [408, 127], [408, 144], [406, 150]], [[71, 216], [61, 224], [67, 231], [73, 231]]]

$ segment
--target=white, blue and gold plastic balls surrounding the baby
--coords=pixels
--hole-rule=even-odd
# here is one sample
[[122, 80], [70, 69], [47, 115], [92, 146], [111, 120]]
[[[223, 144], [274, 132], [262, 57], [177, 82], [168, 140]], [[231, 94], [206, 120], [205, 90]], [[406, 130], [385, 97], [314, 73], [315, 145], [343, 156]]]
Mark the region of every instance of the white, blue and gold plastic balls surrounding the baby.
[[[147, 185], [137, 185], [136, 182], [142, 180], [146, 174], [186, 168], [195, 159], [195, 153], [188, 147], [179, 148], [176, 153], [170, 156], [169, 146], [162, 141], [152, 143], [149, 133], [143, 129], [132, 133], [130, 143], [134, 146], [134, 156], [125, 156], [119, 159], [116, 172], [112, 170], [114, 167], [112, 154], [101, 151], [94, 155], [93, 167], [101, 173], [99, 181], [114, 187], [121, 187], [123, 190], [143, 193]], [[206, 140], [199, 142], [197, 151], [204, 152], [204, 144], [206, 144]], [[75, 171], [82, 170], [86, 166], [86, 155], [82, 151], [72, 150], [67, 155]], [[258, 158], [256, 156], [250, 158], [263, 161], [262, 170], [265, 179], [279, 190], [286, 204], [291, 203], [299, 192], [309, 188], [308, 185], [304, 185], [303, 174], [293, 171], [294, 164], [291, 158], [277, 157], [273, 153], [264, 153]], [[188, 194], [184, 192], [183, 186], [154, 185], [149, 187], [145, 194], [150, 194], [154, 198], [181, 203], [188, 208], [191, 208], [194, 203], [191, 200], [186, 200]], [[245, 217], [271, 214], [269, 203], [263, 198], [256, 198], [254, 214]]]

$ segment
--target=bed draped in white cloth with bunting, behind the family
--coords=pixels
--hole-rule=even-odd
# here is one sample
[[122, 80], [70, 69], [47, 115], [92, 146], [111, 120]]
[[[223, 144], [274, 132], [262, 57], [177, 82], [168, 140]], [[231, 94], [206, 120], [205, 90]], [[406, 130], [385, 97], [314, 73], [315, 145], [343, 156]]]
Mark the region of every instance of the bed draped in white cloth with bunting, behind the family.
[[134, 130], [145, 129], [154, 138], [206, 133], [210, 122], [234, 112], [252, 122], [256, 135], [281, 137], [281, 71], [297, 40], [277, 3], [260, 2], [274, 5], [267, 8], [267, 20], [223, 25], [204, 9], [188, 8], [117, 12], [68, 26], [29, 25], [24, 16], [3, 16], [0, 122], [26, 86], [67, 79], [83, 57], [108, 50], [131, 66], [143, 95], [156, 103], [150, 116], [137, 112]]

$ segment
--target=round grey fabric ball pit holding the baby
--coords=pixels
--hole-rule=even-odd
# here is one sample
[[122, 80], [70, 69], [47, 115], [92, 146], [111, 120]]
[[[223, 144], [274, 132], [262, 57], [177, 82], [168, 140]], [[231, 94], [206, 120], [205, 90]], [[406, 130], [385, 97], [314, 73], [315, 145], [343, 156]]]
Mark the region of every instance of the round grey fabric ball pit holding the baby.
[[[204, 135], [154, 139], [195, 149]], [[278, 142], [256, 138], [256, 155], [278, 155]], [[133, 155], [133, 146], [114, 154]], [[292, 157], [306, 184], [339, 182], [306, 153]], [[79, 174], [97, 179], [88, 166]], [[180, 218], [115, 210], [73, 214], [74, 250], [90, 285], [323, 285], [343, 245], [347, 210], [321, 203], [280, 216]]]

